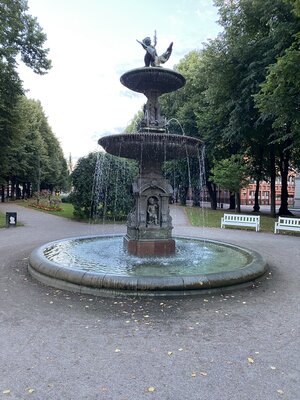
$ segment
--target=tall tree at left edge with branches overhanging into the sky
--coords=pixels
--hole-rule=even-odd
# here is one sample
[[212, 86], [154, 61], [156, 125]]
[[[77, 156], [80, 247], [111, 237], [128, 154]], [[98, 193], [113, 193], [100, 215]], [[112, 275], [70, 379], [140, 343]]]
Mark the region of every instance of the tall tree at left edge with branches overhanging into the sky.
[[16, 106], [23, 93], [17, 73], [18, 57], [34, 72], [44, 74], [51, 67], [46, 35], [36, 18], [27, 13], [25, 0], [0, 2], [0, 181], [6, 181], [7, 150], [16, 135]]

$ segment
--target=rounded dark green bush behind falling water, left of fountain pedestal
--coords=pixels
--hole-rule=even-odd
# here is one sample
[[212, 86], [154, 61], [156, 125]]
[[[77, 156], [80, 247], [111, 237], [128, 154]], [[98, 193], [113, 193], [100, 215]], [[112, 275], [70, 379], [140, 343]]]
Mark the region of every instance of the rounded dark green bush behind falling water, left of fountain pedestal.
[[125, 219], [133, 198], [131, 183], [136, 164], [104, 153], [90, 153], [79, 159], [73, 173], [70, 196], [78, 217]]

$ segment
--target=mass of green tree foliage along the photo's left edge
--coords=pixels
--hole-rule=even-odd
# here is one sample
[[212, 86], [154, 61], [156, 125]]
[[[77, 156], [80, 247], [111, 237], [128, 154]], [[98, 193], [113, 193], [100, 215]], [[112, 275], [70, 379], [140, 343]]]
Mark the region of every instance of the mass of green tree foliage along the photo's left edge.
[[[67, 164], [41, 104], [24, 96], [17, 72], [21, 60], [37, 74], [51, 68], [46, 34], [25, 0], [0, 2], [0, 184], [12, 196], [68, 186]], [[27, 192], [27, 193], [25, 193]]]

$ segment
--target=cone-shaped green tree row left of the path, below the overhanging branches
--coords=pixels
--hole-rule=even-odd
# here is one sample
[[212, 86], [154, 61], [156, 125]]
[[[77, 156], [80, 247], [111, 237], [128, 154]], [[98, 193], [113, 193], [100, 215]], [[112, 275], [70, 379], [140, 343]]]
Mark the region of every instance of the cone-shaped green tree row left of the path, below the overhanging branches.
[[[7, 180], [12, 191], [21, 184], [23, 197], [32, 191], [68, 188], [68, 169], [60, 144], [53, 134], [39, 101], [19, 98], [15, 109], [19, 123], [7, 149]], [[17, 189], [17, 197], [19, 197]], [[15, 193], [12, 193], [15, 196]]]

